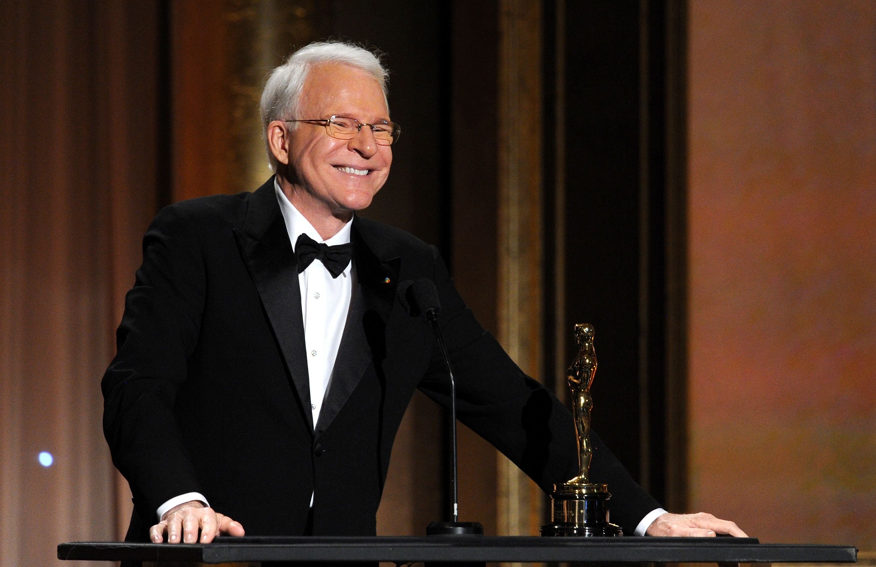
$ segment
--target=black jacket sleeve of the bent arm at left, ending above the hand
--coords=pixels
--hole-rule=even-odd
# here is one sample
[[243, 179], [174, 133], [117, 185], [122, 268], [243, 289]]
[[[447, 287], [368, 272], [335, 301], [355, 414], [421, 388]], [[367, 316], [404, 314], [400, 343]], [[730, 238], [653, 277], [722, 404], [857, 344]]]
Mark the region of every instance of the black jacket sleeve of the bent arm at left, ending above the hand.
[[166, 207], [143, 241], [143, 264], [125, 297], [117, 354], [103, 375], [103, 432], [113, 464], [150, 514], [166, 500], [200, 493], [173, 413], [187, 379], [206, 287], [194, 223]]

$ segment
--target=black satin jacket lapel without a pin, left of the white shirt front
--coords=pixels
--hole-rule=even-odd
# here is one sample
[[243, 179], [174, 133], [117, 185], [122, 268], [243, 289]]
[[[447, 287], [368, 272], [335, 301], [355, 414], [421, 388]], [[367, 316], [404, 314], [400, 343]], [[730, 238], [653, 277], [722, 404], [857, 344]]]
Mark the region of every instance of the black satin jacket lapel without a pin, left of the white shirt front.
[[[270, 187], [268, 184], [271, 184]], [[286, 367], [292, 374], [301, 412], [312, 431], [314, 423], [310, 410], [310, 379], [307, 374], [298, 264], [286, 232], [286, 222], [279, 212], [273, 179], [253, 194], [244, 227], [236, 229], [234, 235], [273, 327]]]

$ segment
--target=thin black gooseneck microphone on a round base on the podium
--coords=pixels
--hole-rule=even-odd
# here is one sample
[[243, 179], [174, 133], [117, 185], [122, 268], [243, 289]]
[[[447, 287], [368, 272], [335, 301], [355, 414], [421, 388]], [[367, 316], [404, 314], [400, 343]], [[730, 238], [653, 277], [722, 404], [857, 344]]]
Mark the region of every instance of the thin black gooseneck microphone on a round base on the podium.
[[432, 332], [441, 349], [444, 365], [450, 377], [450, 459], [452, 476], [450, 479], [450, 493], [453, 494], [453, 503], [450, 515], [453, 521], [433, 521], [426, 528], [427, 535], [484, 535], [484, 526], [477, 521], [459, 521], [459, 491], [458, 472], [456, 467], [456, 381], [453, 378], [453, 368], [450, 367], [450, 358], [447, 355], [447, 347], [444, 346], [444, 338], [441, 326], [438, 325], [438, 312], [441, 311], [441, 299], [438, 297], [438, 288], [427, 277], [419, 277], [415, 280], [406, 280], [399, 283], [396, 292], [399, 303], [412, 317], [425, 317], [432, 323]]

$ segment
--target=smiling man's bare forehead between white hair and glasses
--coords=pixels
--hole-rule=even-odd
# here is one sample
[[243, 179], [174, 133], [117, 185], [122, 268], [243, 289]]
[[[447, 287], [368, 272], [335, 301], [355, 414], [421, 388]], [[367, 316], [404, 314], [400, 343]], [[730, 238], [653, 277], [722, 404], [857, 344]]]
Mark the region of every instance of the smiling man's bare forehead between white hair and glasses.
[[310, 68], [299, 108], [302, 115], [308, 115], [304, 118], [343, 115], [368, 123], [389, 120], [389, 107], [379, 81], [362, 69], [341, 63]]

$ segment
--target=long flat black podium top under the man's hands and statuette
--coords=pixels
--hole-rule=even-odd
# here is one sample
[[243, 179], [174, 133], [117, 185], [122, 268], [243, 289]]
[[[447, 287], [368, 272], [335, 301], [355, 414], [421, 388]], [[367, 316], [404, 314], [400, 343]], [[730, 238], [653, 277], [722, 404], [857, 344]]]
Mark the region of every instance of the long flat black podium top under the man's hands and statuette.
[[841, 545], [731, 537], [218, 537], [212, 543], [71, 542], [59, 559], [91, 561], [854, 563]]

